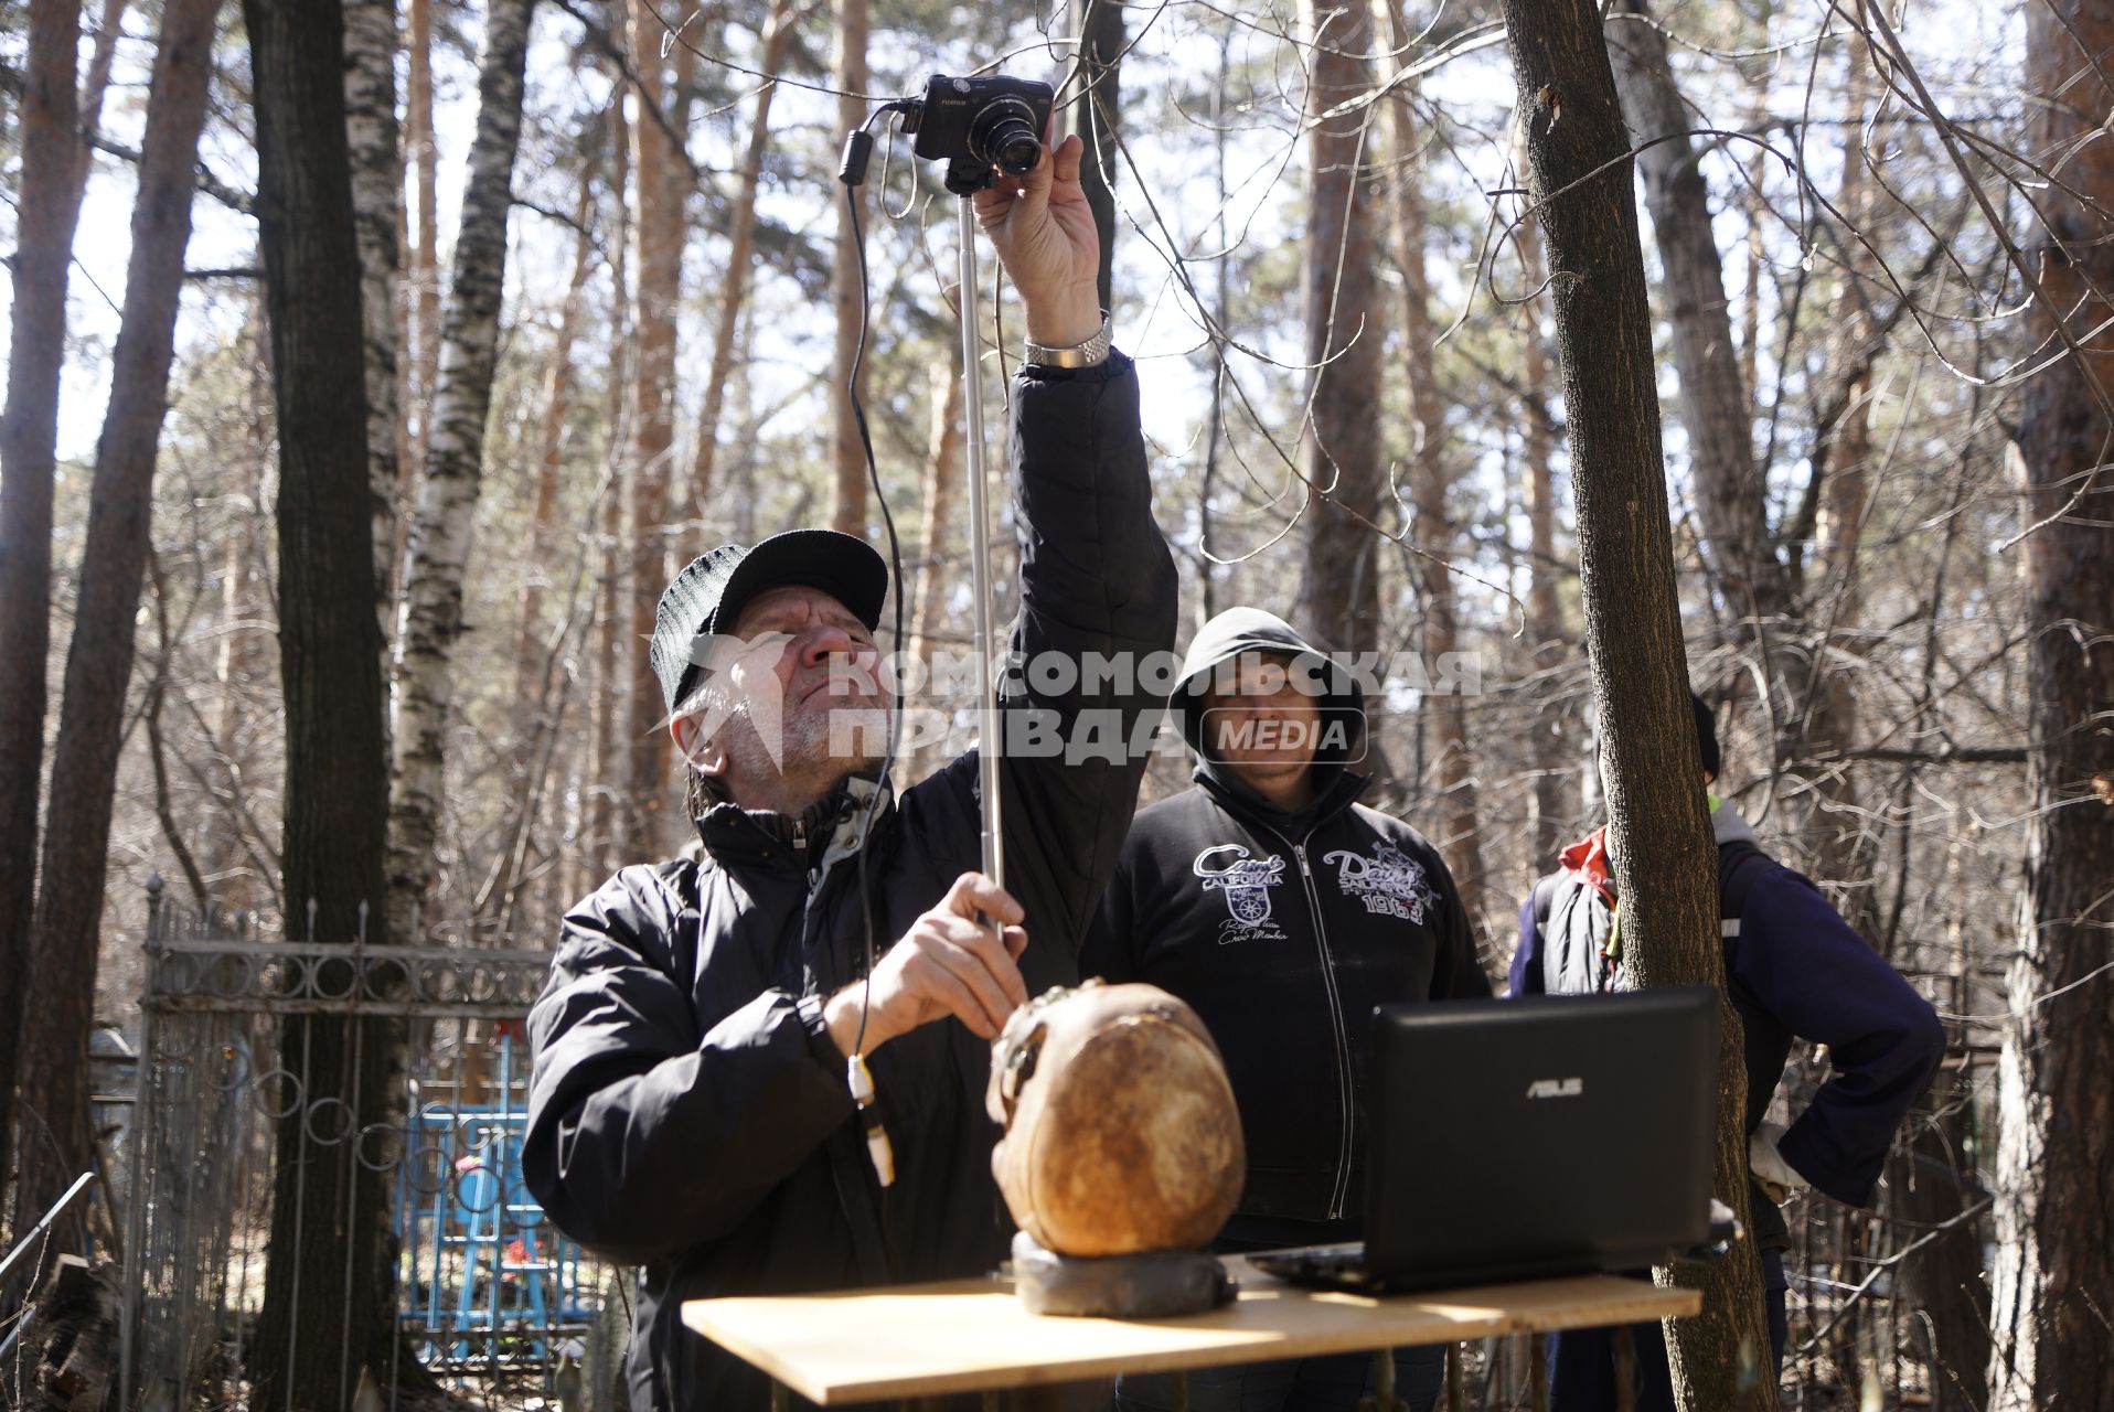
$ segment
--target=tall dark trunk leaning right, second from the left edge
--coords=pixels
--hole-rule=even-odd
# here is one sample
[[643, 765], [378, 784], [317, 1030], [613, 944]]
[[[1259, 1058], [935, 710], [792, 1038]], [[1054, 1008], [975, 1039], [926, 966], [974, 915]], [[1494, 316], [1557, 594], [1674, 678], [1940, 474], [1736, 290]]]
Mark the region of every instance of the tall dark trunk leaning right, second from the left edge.
[[[146, 573], [154, 507], [154, 448], [169, 406], [175, 311], [190, 245], [199, 129], [214, 72], [220, 0], [169, 0], [161, 13], [154, 78], [140, 144], [125, 313], [112, 353], [110, 406], [95, 446], [89, 537], [80, 556], [74, 638], [66, 655], [59, 740], [51, 757], [44, 818], [44, 888], [36, 898], [36, 943], [21, 1017], [19, 1209], [44, 1211], [95, 1167], [89, 1131], [89, 1029], [95, 1021], [95, 960], [101, 941], [104, 877], [125, 695], [133, 664], [133, 619]], [[57, 881], [53, 881], [57, 879]]]

